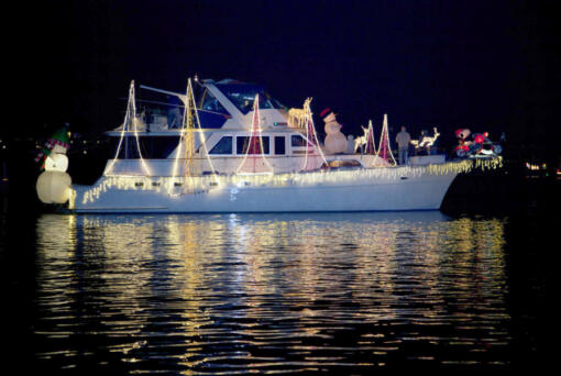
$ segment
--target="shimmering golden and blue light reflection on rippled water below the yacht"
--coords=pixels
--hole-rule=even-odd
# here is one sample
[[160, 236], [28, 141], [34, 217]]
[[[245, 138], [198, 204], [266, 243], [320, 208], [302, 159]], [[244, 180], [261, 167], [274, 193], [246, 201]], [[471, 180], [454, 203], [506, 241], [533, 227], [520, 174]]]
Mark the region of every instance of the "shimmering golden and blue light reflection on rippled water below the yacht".
[[496, 219], [45, 214], [37, 253], [45, 364], [233, 374], [508, 362]]

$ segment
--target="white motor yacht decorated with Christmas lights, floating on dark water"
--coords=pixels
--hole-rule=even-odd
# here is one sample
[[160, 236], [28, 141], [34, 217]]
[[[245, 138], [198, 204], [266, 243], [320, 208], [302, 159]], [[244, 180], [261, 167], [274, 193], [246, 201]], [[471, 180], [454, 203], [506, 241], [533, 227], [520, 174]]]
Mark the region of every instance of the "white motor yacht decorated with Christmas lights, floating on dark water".
[[329, 111], [319, 140], [310, 98], [288, 110], [263, 87], [233, 79], [188, 79], [185, 93], [140, 88], [180, 106], [138, 111], [131, 82], [124, 121], [107, 132], [114, 156], [94, 185], [68, 186], [74, 212], [438, 210], [455, 176], [471, 168], [444, 155], [397, 165], [387, 115], [378, 148], [370, 131], [371, 152], [359, 152], [352, 140], [343, 145]]

